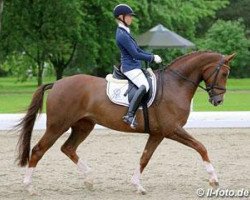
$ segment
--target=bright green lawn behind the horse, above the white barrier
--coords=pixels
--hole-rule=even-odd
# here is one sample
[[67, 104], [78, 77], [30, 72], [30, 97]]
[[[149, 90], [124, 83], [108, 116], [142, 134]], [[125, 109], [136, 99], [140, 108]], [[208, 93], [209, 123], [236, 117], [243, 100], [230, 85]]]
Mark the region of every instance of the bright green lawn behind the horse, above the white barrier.
[[[53, 77], [44, 83], [53, 82]], [[22, 113], [28, 107], [37, 89], [35, 79], [17, 82], [16, 78], [0, 78], [0, 113]], [[194, 96], [194, 111], [250, 111], [250, 79], [229, 79], [224, 104], [214, 107], [208, 102], [208, 94], [200, 89]], [[45, 97], [46, 98], [46, 97]]]

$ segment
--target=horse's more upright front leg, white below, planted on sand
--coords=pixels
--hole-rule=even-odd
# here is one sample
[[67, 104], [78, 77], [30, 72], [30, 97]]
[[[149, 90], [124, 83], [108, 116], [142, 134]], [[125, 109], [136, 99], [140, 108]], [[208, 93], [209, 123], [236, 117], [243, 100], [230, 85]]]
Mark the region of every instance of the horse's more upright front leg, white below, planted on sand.
[[143, 188], [140, 182], [141, 174], [144, 170], [144, 168], [147, 166], [148, 161], [152, 157], [155, 149], [157, 146], [161, 143], [163, 140], [162, 136], [159, 135], [150, 135], [147, 141], [147, 144], [144, 148], [144, 151], [142, 153], [141, 159], [140, 159], [140, 166], [136, 168], [134, 175], [131, 179], [132, 184], [136, 187], [137, 192], [140, 194], [146, 194], [146, 190]]

